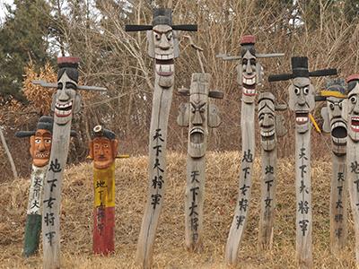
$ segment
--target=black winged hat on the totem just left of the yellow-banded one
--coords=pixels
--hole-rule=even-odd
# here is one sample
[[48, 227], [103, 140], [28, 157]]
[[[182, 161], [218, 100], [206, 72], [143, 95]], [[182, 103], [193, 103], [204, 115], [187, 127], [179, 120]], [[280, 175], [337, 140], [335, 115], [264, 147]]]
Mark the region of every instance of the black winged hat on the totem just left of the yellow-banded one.
[[337, 69], [322, 69], [310, 72], [308, 70], [308, 57], [294, 56], [291, 58], [292, 74], [271, 74], [268, 76], [268, 82], [287, 81], [296, 77], [326, 76], [337, 74]]

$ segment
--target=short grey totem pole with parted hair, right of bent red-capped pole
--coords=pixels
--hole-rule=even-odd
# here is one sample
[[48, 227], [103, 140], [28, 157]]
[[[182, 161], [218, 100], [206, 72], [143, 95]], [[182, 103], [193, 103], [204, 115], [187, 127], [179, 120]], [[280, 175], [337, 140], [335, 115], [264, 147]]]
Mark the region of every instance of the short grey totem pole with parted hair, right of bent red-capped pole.
[[286, 134], [285, 119], [282, 115], [276, 115], [276, 111], [285, 109], [285, 104], [276, 104], [276, 98], [272, 93], [259, 94], [258, 122], [262, 148], [259, 249], [270, 248], [273, 239], [276, 209], [277, 138]]

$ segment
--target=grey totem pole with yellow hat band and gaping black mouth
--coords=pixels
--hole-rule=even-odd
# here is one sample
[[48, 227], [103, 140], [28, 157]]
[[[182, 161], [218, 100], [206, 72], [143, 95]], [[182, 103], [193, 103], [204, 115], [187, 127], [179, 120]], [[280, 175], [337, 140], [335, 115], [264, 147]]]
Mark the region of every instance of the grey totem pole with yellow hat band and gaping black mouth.
[[346, 247], [347, 220], [347, 183], [346, 183], [346, 111], [343, 102], [346, 99], [344, 79], [327, 80], [326, 88], [316, 96], [316, 100], [327, 100], [327, 106], [321, 108], [322, 129], [331, 136], [333, 172], [330, 189], [330, 248], [337, 254]]

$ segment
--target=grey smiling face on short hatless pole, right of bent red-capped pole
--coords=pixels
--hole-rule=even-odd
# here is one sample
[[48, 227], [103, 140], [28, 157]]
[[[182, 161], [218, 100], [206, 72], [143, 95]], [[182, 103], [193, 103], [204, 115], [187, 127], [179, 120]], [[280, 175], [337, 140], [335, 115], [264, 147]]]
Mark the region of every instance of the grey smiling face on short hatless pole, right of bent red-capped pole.
[[260, 143], [265, 151], [276, 147], [276, 113], [273, 100], [263, 99], [258, 104]]

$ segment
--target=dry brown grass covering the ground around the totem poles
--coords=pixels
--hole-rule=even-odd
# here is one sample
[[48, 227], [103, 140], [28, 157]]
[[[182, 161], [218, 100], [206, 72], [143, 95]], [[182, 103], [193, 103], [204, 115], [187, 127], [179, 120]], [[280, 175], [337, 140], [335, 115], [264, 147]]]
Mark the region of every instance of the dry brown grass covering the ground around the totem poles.
[[[327, 160], [330, 158], [328, 157]], [[349, 250], [339, 257], [329, 251], [330, 161], [312, 163], [313, 258], [316, 268], [354, 268], [353, 221], [349, 220]], [[186, 156], [168, 156], [168, 187], [154, 246], [154, 267], [225, 268], [223, 249], [237, 196], [240, 158], [237, 152], [207, 154], [205, 247], [200, 254], [185, 250], [184, 191]], [[66, 170], [62, 207], [62, 265], [64, 268], [133, 268], [147, 189], [147, 159], [118, 160], [116, 169], [116, 253], [92, 255], [92, 166]], [[277, 211], [273, 247], [258, 252], [259, 160], [250, 206], [250, 222], [241, 243], [239, 268], [295, 268], [295, 195], [293, 160], [278, 163]], [[0, 185], [0, 267], [39, 268], [41, 255], [24, 259], [22, 237], [28, 179]]]

